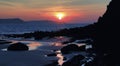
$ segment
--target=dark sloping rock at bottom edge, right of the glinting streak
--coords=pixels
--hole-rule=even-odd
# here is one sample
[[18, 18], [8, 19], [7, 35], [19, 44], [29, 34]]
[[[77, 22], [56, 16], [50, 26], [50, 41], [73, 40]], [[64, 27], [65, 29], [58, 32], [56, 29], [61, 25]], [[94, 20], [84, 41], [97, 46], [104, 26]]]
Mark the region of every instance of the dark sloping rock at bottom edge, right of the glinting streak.
[[85, 57], [82, 55], [76, 55], [72, 59], [68, 60], [67, 62], [63, 63], [62, 66], [81, 66], [81, 60]]

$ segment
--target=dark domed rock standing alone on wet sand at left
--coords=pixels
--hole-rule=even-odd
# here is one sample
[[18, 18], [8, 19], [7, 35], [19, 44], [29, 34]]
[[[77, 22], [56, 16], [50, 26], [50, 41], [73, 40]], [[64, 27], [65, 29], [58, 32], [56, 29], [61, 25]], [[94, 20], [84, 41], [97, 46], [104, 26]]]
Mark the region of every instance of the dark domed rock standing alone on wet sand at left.
[[27, 51], [28, 49], [28, 46], [23, 43], [15, 43], [7, 48], [8, 51]]

